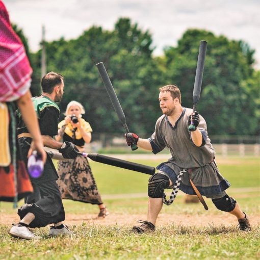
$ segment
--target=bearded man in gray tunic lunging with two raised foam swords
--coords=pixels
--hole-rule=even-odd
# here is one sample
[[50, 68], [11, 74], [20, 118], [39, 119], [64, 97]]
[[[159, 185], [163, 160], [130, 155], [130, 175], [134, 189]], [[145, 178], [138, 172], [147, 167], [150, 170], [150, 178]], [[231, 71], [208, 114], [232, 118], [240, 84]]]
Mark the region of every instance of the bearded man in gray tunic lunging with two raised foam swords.
[[[242, 212], [238, 202], [225, 192], [230, 184], [220, 174], [214, 161], [215, 150], [207, 136], [204, 118], [198, 112], [193, 113], [192, 109], [181, 106], [177, 86], [167, 85], [159, 90], [163, 115], [157, 120], [151, 138], [142, 139], [134, 133], [125, 134], [128, 146], [136, 144], [154, 154], [168, 147], [171, 152], [171, 158], [157, 166], [158, 172], [149, 178], [147, 220], [139, 221], [142, 225], [134, 226], [133, 230], [139, 233], [155, 230], [163, 203], [170, 204], [173, 201], [167, 203], [169, 201], [165, 199], [164, 190], [174, 185], [174, 189], [179, 187], [186, 194], [201, 194], [211, 198], [217, 209], [237, 217], [241, 230], [250, 230], [248, 216]], [[195, 126], [192, 132], [188, 129], [191, 122]], [[207, 209], [206, 205], [204, 207]]]

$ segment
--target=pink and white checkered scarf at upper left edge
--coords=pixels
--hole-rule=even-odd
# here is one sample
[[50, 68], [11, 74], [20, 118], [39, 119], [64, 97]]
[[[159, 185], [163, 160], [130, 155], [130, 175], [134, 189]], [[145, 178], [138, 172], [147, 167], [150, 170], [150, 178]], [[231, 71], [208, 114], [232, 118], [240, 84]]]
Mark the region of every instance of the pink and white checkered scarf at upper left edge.
[[32, 68], [21, 40], [13, 31], [5, 5], [0, 1], [0, 102], [24, 95], [31, 85]]

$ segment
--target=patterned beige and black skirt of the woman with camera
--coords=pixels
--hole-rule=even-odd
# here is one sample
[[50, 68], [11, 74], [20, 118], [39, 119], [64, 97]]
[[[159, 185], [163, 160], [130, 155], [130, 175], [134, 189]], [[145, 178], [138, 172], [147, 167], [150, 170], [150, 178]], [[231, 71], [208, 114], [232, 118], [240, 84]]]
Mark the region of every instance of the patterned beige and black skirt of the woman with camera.
[[87, 158], [76, 157], [59, 161], [57, 184], [63, 199], [72, 199], [91, 204], [102, 204]]

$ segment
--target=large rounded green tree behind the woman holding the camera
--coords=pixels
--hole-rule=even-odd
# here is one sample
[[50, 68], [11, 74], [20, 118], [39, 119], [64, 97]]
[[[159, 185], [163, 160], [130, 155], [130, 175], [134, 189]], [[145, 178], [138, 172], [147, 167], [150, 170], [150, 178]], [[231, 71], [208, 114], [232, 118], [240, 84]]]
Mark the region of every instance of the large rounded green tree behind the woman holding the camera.
[[[47, 70], [57, 71], [65, 77], [65, 94], [60, 103], [62, 111], [69, 101], [77, 100], [86, 108], [85, 117], [95, 132], [123, 132], [96, 68], [98, 62], [103, 62], [128, 127], [133, 132], [153, 132], [160, 111], [155, 110], [158, 108], [154, 95], [158, 95], [159, 70], [152, 58], [151, 43], [149, 32], [142, 32], [128, 18], [120, 18], [113, 31], [91, 27], [77, 39], [48, 42]], [[40, 55], [40, 51], [33, 55], [38, 74]]]

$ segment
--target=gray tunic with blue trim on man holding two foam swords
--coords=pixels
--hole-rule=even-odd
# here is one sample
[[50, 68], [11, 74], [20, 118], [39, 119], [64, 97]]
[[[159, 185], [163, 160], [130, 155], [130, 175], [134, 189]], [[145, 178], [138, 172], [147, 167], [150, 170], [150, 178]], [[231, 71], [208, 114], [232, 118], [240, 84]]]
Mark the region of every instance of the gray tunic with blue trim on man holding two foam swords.
[[[202, 134], [202, 145], [198, 147], [192, 142], [191, 133], [188, 131], [188, 117], [192, 111], [192, 109], [184, 108], [174, 127], [166, 115], [157, 120], [155, 131], [148, 139], [152, 146], [152, 152], [158, 153], [165, 147], [168, 147], [171, 152], [171, 158], [168, 162], [160, 164], [157, 169], [168, 175], [174, 184], [179, 171], [193, 168], [192, 180], [201, 195], [207, 197], [222, 195], [230, 184], [220, 174], [214, 162], [215, 150], [207, 136], [206, 122], [200, 115], [200, 123], [197, 128]], [[184, 174], [181, 179], [180, 190], [195, 195], [190, 185], [188, 173]]]

